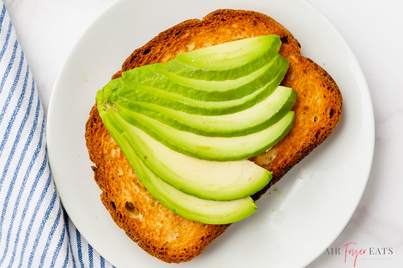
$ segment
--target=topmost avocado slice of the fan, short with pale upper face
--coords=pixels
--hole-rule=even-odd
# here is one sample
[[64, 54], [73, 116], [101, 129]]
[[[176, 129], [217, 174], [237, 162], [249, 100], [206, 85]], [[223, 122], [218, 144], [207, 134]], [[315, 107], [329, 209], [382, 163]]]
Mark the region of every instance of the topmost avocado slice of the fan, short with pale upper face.
[[180, 54], [164, 64], [164, 68], [195, 79], [237, 79], [265, 65], [280, 46], [278, 35], [246, 38]]

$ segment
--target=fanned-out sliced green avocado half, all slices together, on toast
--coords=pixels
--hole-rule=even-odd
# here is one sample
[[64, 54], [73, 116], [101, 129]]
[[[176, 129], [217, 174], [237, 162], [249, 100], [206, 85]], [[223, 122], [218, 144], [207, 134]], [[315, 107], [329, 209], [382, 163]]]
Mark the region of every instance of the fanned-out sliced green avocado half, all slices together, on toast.
[[137, 67], [96, 95], [99, 115], [162, 205], [206, 224], [241, 220], [271, 172], [248, 160], [294, 124], [296, 92], [279, 86], [289, 62], [268, 35]]

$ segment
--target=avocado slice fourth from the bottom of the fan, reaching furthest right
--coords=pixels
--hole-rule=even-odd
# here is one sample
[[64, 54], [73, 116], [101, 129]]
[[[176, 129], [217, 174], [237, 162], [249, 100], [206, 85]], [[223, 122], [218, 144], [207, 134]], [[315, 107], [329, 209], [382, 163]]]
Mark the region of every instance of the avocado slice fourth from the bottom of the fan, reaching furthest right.
[[[202, 136], [234, 137], [263, 130], [282, 118], [295, 104], [297, 93], [291, 87], [278, 86], [266, 99], [246, 110], [218, 116], [188, 114], [152, 103], [137, 102], [131, 108], [178, 130]], [[123, 118], [132, 111], [116, 104]]]

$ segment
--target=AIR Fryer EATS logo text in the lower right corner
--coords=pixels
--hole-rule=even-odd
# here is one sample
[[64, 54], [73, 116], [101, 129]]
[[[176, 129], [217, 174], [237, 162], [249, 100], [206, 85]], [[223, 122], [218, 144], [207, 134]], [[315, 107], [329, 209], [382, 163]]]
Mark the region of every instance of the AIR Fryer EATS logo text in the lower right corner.
[[326, 248], [324, 255], [340, 255], [344, 263], [356, 267], [358, 261], [364, 260], [393, 260], [392, 247], [360, 247], [356, 242], [349, 242], [340, 247]]

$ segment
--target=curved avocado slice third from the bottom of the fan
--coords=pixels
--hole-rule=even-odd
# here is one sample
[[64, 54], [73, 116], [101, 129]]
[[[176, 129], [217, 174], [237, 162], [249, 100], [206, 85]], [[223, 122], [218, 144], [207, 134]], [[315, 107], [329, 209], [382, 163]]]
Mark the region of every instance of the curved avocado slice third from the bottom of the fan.
[[[98, 106], [98, 110], [107, 109], [103, 104], [100, 106]], [[117, 109], [109, 110], [111, 110], [111, 113], [119, 113]], [[126, 120], [154, 139], [180, 153], [206, 160], [236, 161], [262, 153], [280, 141], [289, 132], [294, 123], [294, 112], [288, 112], [278, 122], [266, 129], [238, 137], [201, 136], [177, 130], [135, 112], [132, 112], [131, 117], [126, 118]]]

